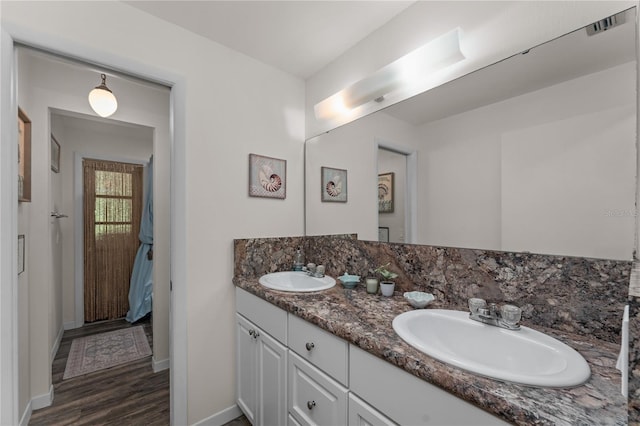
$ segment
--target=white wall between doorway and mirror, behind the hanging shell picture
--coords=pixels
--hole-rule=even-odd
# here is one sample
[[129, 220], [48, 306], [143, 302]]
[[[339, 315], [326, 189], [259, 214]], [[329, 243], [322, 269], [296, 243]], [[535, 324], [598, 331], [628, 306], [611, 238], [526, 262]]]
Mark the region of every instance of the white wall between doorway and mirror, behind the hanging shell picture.
[[[233, 406], [232, 240], [303, 233], [303, 82], [119, 2], [1, 7], [18, 40], [176, 83], [174, 349], [185, 356], [172, 417], [192, 424]], [[248, 197], [249, 153], [288, 160], [286, 200]]]

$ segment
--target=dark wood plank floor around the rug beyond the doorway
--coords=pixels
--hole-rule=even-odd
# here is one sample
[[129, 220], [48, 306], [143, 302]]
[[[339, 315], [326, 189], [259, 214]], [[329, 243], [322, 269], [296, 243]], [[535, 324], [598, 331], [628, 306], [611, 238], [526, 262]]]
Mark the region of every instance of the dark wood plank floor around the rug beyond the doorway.
[[[152, 345], [151, 321], [133, 325], [144, 326]], [[169, 370], [154, 373], [151, 357], [62, 380], [73, 339], [131, 326], [122, 319], [65, 331], [52, 367], [53, 404], [34, 411], [29, 424], [168, 425]]]

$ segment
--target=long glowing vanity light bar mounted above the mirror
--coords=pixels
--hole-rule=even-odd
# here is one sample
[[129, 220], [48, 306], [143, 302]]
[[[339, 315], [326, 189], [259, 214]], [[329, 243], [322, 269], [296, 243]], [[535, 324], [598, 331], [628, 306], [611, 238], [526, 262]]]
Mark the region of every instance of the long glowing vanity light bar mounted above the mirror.
[[385, 95], [414, 87], [431, 74], [463, 60], [460, 28], [431, 40], [372, 75], [335, 93], [314, 107], [315, 116], [329, 120]]

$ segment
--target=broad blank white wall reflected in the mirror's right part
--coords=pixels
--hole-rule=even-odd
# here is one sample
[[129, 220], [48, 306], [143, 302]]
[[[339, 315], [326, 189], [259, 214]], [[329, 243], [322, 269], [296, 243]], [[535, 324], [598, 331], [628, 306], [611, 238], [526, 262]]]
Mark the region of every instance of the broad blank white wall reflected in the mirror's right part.
[[418, 240], [631, 259], [635, 67], [627, 63], [420, 128]]

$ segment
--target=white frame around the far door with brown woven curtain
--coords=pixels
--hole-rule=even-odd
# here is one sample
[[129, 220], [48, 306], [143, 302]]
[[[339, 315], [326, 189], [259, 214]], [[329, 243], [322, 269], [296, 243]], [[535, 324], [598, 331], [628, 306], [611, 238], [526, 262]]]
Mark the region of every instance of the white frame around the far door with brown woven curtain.
[[[82, 176], [82, 160], [85, 158], [89, 158], [92, 160], [101, 160], [101, 161], [115, 161], [118, 163], [131, 163], [131, 164], [140, 164], [144, 167], [144, 179], [146, 179], [147, 166], [149, 165], [148, 159], [140, 159], [134, 157], [113, 157], [108, 155], [99, 155], [99, 154], [89, 154], [82, 152], [75, 152], [73, 157], [73, 167], [74, 167], [74, 179], [73, 182], [73, 194], [74, 194], [74, 206], [75, 209], [74, 217], [75, 223], [73, 227], [75, 229], [75, 271], [74, 271], [74, 281], [75, 281], [75, 324], [74, 326], [82, 327], [84, 325], [84, 180], [79, 177]], [[146, 188], [143, 179], [143, 188]], [[143, 200], [145, 199], [145, 194], [142, 194]], [[65, 327], [67, 329], [67, 327]]]

